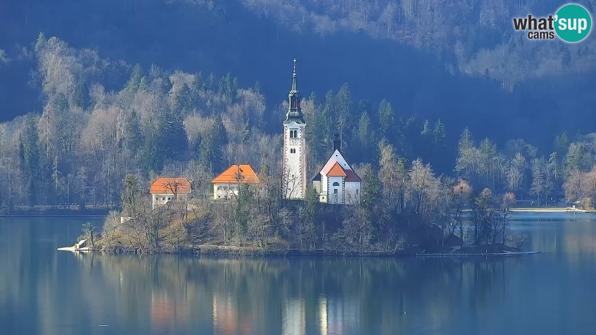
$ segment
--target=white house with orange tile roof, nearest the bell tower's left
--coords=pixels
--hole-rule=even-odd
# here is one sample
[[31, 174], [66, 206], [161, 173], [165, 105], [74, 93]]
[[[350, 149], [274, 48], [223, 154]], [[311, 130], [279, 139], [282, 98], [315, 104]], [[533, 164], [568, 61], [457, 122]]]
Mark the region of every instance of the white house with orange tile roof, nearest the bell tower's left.
[[238, 196], [238, 190], [243, 184], [253, 187], [253, 191], [260, 193], [262, 183], [259, 176], [248, 164], [230, 166], [224, 172], [213, 178], [213, 199], [226, 199]]

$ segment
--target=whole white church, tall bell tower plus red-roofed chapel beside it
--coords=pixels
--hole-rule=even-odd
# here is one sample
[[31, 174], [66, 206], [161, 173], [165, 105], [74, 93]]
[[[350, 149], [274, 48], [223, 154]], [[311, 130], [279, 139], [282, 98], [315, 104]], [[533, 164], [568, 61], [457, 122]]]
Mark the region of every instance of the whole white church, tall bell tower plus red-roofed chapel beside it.
[[[296, 60], [292, 88], [288, 94], [285, 114], [283, 185], [284, 197], [302, 199], [306, 195], [306, 122], [300, 107], [300, 92], [296, 88]], [[333, 154], [315, 178], [312, 186], [322, 203], [355, 204], [360, 202], [362, 179], [354, 172], [341, 153], [339, 136], [333, 139]]]

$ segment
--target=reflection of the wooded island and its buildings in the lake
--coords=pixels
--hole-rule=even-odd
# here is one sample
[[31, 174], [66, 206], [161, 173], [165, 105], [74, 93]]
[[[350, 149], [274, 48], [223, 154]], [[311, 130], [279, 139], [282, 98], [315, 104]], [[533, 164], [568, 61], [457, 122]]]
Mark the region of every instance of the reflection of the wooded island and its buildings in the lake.
[[[459, 317], [498, 308], [507, 271], [523, 258], [221, 259], [200, 256], [69, 254], [91, 314], [114, 304], [118, 323], [150, 318], [151, 331], [209, 329], [213, 334], [393, 334], [439, 330]], [[507, 269], [507, 271], [506, 271]], [[113, 300], [105, 293], [113, 291]], [[407, 313], [404, 313], [407, 312]], [[120, 318], [121, 317], [121, 318]], [[414, 320], [413, 325], [408, 325]], [[425, 322], [422, 323], [422, 320]], [[420, 322], [420, 323], [418, 323]]]

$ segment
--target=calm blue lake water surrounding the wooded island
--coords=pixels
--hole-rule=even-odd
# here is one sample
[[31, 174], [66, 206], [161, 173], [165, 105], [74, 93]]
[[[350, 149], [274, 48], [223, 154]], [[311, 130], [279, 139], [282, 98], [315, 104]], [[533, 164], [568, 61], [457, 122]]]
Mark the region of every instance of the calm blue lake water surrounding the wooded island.
[[84, 222], [0, 218], [0, 334], [595, 334], [596, 216], [516, 215], [538, 255], [58, 252]]

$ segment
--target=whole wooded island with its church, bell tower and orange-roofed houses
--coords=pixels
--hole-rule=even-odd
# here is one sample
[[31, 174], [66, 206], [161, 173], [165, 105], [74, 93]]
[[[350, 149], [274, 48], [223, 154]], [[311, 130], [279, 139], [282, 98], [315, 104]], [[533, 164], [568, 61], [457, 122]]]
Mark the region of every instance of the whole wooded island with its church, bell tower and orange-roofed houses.
[[[296, 60], [291, 78], [277, 159], [269, 153], [259, 169], [235, 163], [212, 179], [205, 165], [172, 166], [169, 173], [176, 175], [155, 176], [148, 194], [139, 176], [129, 174], [120, 191], [122, 211], [110, 212], [101, 236], [86, 227], [81, 237], [88, 241], [86, 249], [232, 255], [523, 253], [524, 238], [509, 229], [513, 193], [474, 190], [464, 173], [458, 179], [436, 176], [421, 159], [409, 163], [398, 157], [384, 138], [378, 142], [378, 168], [371, 163], [352, 168], [346, 157], [361, 153], [342, 148], [347, 139], [341, 131], [323, 156], [327, 160], [309, 164], [309, 152], [319, 144], [306, 136]], [[227, 139], [222, 119], [216, 118], [209, 141]], [[473, 147], [467, 131], [460, 142]]]

